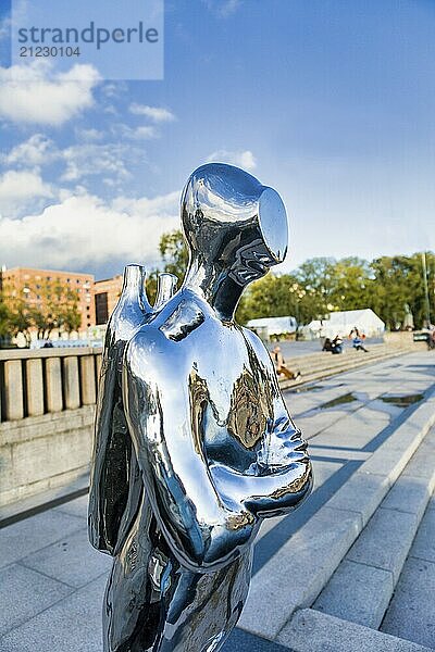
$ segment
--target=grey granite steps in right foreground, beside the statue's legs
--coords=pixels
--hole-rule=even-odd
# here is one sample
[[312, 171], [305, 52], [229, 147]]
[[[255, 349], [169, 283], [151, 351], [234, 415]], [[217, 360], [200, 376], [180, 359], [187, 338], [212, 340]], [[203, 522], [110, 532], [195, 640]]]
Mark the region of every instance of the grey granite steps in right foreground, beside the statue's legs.
[[238, 627], [294, 652], [427, 650], [378, 628], [435, 487], [434, 423], [435, 392], [253, 576]]

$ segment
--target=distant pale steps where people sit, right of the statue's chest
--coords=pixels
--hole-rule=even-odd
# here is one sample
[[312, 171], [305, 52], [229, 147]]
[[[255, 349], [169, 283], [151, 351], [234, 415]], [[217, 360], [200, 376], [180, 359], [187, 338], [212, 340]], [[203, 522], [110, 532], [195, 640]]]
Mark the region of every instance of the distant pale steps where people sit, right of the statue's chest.
[[297, 380], [281, 379], [282, 389], [291, 389], [303, 383], [320, 380], [335, 374], [348, 372], [368, 364], [373, 364], [382, 360], [403, 355], [426, 348], [424, 342], [401, 341], [397, 344], [383, 343], [371, 344], [369, 352], [356, 351], [355, 349], [345, 349], [344, 353], [333, 355], [326, 351], [310, 353], [309, 355], [299, 355], [286, 360], [286, 366], [289, 369], [299, 369], [301, 377]]

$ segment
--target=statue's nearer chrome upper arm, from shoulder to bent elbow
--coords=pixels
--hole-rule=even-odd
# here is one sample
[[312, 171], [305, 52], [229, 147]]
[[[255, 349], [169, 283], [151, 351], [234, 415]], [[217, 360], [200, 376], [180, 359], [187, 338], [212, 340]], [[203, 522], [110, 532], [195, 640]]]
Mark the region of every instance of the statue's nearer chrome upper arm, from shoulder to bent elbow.
[[187, 383], [184, 387], [176, 360], [151, 346], [151, 364], [146, 349], [140, 334], [127, 348], [124, 400], [148, 498], [178, 561], [212, 572], [240, 554], [258, 521], [216, 490], [192, 431]]

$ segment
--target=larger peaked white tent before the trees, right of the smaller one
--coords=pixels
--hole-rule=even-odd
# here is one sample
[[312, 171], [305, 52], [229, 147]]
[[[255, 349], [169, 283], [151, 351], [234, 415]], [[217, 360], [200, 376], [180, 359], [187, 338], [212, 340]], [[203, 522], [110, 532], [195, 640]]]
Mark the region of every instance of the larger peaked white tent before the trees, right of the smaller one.
[[314, 319], [304, 329], [315, 337], [334, 338], [336, 335], [348, 337], [350, 331], [358, 328], [366, 337], [381, 337], [385, 330], [384, 322], [371, 308], [362, 310], [344, 310], [333, 312], [326, 319]]

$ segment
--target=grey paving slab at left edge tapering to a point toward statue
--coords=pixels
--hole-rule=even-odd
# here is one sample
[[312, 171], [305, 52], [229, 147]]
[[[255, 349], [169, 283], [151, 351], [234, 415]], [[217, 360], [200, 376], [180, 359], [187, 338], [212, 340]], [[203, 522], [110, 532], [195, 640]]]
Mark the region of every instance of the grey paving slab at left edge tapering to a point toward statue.
[[0, 586], [8, 588], [1, 595], [0, 636], [72, 591], [64, 584], [17, 564], [0, 570]]

